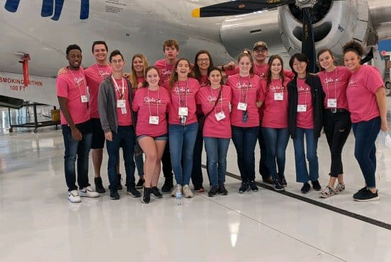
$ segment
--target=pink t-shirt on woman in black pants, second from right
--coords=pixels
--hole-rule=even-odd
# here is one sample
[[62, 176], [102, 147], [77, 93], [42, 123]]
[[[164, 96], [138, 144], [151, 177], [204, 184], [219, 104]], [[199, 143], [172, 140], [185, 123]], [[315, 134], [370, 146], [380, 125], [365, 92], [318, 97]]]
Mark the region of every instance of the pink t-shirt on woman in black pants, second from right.
[[319, 72], [319, 79], [322, 83], [324, 98], [324, 108], [327, 106], [327, 99], [336, 99], [336, 108], [348, 110], [348, 99], [346, 98], [346, 88], [351, 76], [351, 72], [346, 67], [336, 67], [333, 72]]

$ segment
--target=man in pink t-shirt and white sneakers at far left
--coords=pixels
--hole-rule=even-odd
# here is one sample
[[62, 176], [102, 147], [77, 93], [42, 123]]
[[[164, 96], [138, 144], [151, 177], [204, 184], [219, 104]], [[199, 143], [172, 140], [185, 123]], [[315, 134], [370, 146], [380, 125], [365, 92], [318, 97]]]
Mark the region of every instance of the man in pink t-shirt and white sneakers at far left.
[[[89, 184], [89, 150], [91, 148], [91, 123], [89, 115], [89, 91], [81, 64], [81, 48], [78, 45], [67, 47], [67, 72], [60, 74], [56, 81], [57, 98], [61, 109], [62, 135], [64, 137], [64, 172], [68, 186], [68, 199], [72, 203], [81, 202], [80, 196], [96, 198]], [[77, 182], [76, 169], [77, 159]]]

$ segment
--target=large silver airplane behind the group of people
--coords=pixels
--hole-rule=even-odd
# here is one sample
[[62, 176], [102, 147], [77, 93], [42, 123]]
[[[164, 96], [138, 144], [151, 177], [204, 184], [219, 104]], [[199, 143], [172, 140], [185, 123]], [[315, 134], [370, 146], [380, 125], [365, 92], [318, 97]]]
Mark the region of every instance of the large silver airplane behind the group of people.
[[[222, 13], [227, 10], [217, 8], [217, 15], [224, 16], [192, 17], [194, 9], [222, 3], [227, 4], [210, 0], [1, 1], [0, 94], [57, 106], [55, 76], [67, 66], [65, 48], [73, 43], [81, 46], [82, 64], [88, 67], [94, 64], [94, 40], [105, 40], [109, 52], [123, 52], [128, 71], [135, 53], [147, 55], [149, 64], [161, 59], [166, 39], [178, 40], [179, 57], [191, 61], [198, 50], [206, 49], [215, 64], [224, 64], [259, 40], [268, 43], [269, 54], [288, 57], [301, 52], [304, 8], [310, 11], [316, 50], [328, 47], [341, 57], [341, 46], [355, 39], [373, 55], [380, 72], [384, 70], [376, 44], [391, 38], [389, 0], [232, 1], [244, 12]], [[269, 7], [273, 8], [263, 10]], [[25, 69], [28, 65], [27, 86], [20, 62]]]

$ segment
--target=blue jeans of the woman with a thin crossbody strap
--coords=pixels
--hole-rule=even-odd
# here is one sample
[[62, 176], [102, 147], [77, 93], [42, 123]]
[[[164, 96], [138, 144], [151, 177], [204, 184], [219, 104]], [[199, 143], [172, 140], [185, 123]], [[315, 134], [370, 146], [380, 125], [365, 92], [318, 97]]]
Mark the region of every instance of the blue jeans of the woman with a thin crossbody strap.
[[212, 186], [224, 186], [229, 138], [204, 137]]

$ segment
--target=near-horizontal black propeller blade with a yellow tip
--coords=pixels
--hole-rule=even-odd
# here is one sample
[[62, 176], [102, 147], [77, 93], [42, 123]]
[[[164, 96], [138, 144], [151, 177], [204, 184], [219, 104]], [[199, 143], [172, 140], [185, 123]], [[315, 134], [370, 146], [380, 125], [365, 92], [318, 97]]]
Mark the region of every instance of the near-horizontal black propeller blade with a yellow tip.
[[191, 12], [193, 17], [233, 16], [244, 13], [253, 13], [265, 9], [295, 3], [295, 0], [242, 0], [228, 1], [211, 6], [196, 8]]

